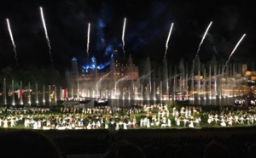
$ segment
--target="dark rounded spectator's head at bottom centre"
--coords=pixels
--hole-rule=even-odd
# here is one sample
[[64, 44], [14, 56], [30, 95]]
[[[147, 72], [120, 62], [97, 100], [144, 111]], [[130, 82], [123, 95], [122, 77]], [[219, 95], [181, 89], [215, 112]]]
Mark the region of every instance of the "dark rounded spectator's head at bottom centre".
[[143, 150], [136, 144], [131, 144], [126, 141], [119, 141], [109, 146], [105, 155], [102, 158], [145, 158]]

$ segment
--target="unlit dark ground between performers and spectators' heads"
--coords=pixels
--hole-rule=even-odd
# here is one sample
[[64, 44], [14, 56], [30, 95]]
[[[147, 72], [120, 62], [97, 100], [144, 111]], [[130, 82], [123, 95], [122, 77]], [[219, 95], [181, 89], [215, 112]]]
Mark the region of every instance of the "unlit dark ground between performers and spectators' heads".
[[[1, 129], [1, 133], [15, 129]], [[100, 157], [109, 145], [126, 140], [139, 146], [146, 157], [174, 157], [177, 150], [190, 157], [203, 157], [206, 145], [215, 140], [223, 144], [230, 157], [247, 157], [248, 147], [256, 144], [256, 127], [214, 127], [201, 129], [119, 130], [37, 130], [51, 139], [64, 157], [93, 155]], [[132, 152], [132, 151], [131, 151]]]

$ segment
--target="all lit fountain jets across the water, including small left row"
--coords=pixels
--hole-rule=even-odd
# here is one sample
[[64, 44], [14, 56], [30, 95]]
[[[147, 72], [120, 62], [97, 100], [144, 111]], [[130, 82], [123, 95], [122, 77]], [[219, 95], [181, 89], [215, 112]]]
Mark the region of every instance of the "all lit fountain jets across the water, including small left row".
[[[128, 100], [129, 103], [154, 103], [168, 99], [178, 99], [178, 101], [179, 99], [189, 99], [189, 104], [219, 104], [230, 97], [234, 98], [247, 93], [245, 91], [246, 85], [243, 85], [244, 77], [242, 75], [237, 76], [237, 73], [241, 74], [241, 70], [238, 68], [241, 65], [230, 64], [224, 67], [223, 65], [218, 65], [215, 58], [212, 58], [210, 64], [204, 65], [201, 64], [199, 57], [197, 57], [195, 59], [195, 71], [189, 74], [189, 66], [184, 66], [183, 59], [180, 60], [178, 66], [174, 66], [173, 70], [171, 66], [169, 69], [167, 68], [166, 58], [164, 61], [162, 66], [157, 66], [157, 68], [151, 70], [150, 61], [147, 58], [143, 75], [132, 80], [131, 76], [114, 77], [115, 71], [99, 72], [99, 76], [102, 77], [97, 81], [89, 82], [91, 84], [79, 82], [74, 85], [75, 87], [69, 88], [68, 97], [73, 99], [77, 97], [94, 99], [100, 97], [101, 99], [123, 100], [118, 102], [120, 105], [126, 104]], [[129, 66], [122, 68], [124, 72], [126, 71], [125, 69], [130, 69]], [[165, 73], [163, 74], [162, 72]], [[85, 87], [84, 85], [94, 88]], [[79, 86], [78, 89], [81, 92], [75, 94], [77, 86]], [[20, 82], [19, 89], [21, 90], [22, 87], [22, 82]], [[32, 89], [31, 93], [31, 84], [28, 82], [27, 98], [25, 95], [24, 104], [33, 105], [36, 103], [41, 105], [43, 103], [43, 105], [55, 105], [52, 104], [53, 99], [56, 102], [61, 98], [61, 96], [57, 95], [56, 88], [56, 86], [53, 88], [49, 86], [47, 88], [48, 95], [48, 92], [45, 92], [45, 86], [43, 86], [43, 93], [39, 91], [39, 99], [38, 84], [36, 83], [35, 90]], [[13, 92], [10, 93], [11, 97], [6, 96], [6, 89], [6, 80], [3, 79], [3, 104], [23, 104], [22, 98], [15, 98], [17, 89], [15, 89], [14, 80], [12, 80], [9, 90], [9, 92]], [[51, 96], [52, 94], [54, 97]], [[49, 102], [47, 99], [46, 103], [45, 98], [48, 98], [48, 96]], [[9, 99], [6, 99], [7, 97]], [[200, 99], [202, 100], [200, 101]], [[11, 100], [11, 103], [8, 100]]]

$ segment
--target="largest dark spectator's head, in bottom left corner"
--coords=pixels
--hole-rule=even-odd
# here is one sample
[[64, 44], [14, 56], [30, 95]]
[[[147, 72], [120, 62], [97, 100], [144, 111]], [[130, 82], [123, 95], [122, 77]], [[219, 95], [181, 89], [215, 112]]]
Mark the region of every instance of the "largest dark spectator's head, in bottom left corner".
[[7, 131], [0, 134], [0, 153], [3, 157], [61, 158], [49, 138], [31, 130]]

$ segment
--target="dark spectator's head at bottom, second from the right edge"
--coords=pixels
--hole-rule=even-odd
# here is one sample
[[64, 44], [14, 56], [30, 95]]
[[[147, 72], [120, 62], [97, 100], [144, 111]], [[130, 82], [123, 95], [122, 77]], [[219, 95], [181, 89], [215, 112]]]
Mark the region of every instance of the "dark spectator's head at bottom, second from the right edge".
[[229, 152], [223, 144], [211, 141], [204, 149], [204, 158], [229, 158]]

